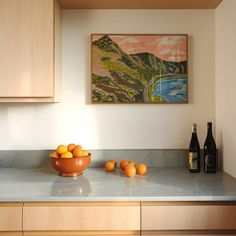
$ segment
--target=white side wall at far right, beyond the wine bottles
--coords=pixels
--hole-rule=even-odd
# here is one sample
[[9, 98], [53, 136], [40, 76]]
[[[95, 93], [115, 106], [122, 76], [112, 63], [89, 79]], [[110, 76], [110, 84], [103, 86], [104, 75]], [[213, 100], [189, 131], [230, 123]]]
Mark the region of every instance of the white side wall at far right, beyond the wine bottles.
[[216, 9], [217, 143], [224, 170], [236, 177], [236, 1], [224, 0]]

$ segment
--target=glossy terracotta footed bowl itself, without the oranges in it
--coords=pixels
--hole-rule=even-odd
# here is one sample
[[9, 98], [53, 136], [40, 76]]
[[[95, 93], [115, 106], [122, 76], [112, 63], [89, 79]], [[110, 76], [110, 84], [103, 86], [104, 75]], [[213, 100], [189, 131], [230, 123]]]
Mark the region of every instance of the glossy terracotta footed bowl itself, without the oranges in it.
[[51, 163], [59, 175], [73, 177], [83, 174], [90, 164], [90, 156], [91, 154], [86, 157], [51, 158]]

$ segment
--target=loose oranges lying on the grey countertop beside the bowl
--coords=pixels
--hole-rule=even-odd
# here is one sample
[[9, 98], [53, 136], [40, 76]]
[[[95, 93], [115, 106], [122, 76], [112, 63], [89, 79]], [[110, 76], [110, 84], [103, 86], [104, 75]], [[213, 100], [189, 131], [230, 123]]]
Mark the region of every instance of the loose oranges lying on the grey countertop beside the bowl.
[[[110, 160], [105, 163], [105, 169], [108, 172], [114, 171], [116, 167], [116, 160]], [[136, 173], [139, 175], [145, 175], [147, 172], [147, 165], [143, 163], [136, 165], [134, 161], [122, 160], [120, 161], [120, 169], [124, 171], [125, 176], [133, 177]]]

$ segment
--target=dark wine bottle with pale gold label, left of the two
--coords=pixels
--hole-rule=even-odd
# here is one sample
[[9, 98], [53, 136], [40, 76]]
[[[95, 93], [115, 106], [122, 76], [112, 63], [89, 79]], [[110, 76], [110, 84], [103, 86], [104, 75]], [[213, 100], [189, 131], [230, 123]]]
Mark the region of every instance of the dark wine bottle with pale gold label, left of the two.
[[201, 171], [201, 152], [197, 138], [197, 124], [192, 125], [192, 138], [189, 145], [188, 168], [190, 173]]

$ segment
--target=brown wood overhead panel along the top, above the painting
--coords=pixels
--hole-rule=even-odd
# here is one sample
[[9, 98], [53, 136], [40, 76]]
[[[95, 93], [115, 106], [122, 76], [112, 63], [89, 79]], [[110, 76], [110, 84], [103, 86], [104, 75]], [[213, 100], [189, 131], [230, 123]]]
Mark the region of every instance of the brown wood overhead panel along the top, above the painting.
[[59, 0], [64, 9], [215, 9], [222, 0]]

